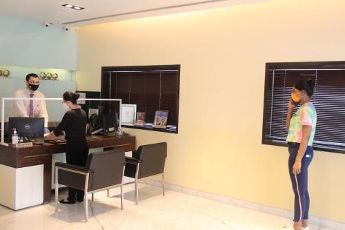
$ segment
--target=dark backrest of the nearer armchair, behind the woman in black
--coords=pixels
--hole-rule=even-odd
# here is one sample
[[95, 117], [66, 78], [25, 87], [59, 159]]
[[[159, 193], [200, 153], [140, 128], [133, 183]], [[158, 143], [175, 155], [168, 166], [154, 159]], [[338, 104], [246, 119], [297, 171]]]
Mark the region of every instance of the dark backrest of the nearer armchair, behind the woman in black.
[[123, 149], [90, 153], [86, 168], [92, 170], [93, 173], [89, 180], [88, 191], [121, 184], [125, 164], [125, 151]]

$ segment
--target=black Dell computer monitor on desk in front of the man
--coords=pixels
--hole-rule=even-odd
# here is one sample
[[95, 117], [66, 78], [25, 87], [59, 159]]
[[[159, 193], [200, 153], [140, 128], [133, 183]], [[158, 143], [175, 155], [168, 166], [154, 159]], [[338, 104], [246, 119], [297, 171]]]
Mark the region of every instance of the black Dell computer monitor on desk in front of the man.
[[44, 142], [44, 118], [43, 117], [9, 117], [8, 135], [11, 137], [13, 128], [18, 137], [23, 137], [23, 142]]

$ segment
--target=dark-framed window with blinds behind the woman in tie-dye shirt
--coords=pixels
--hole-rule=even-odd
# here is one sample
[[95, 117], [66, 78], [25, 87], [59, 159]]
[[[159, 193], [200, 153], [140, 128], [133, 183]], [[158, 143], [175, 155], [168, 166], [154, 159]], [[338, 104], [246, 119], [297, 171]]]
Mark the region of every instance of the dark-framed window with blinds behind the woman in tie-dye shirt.
[[299, 79], [315, 81], [310, 98], [317, 111], [313, 147], [345, 153], [345, 61], [267, 63], [262, 144], [286, 144], [286, 113]]

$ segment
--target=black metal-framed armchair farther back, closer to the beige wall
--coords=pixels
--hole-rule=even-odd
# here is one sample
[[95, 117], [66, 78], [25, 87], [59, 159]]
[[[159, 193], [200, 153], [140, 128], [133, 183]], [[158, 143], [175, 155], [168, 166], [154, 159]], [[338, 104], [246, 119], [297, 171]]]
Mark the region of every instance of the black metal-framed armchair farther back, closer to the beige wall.
[[135, 204], [138, 204], [138, 179], [150, 175], [162, 175], [163, 195], [164, 189], [164, 164], [167, 156], [167, 144], [146, 144], [133, 151], [132, 157], [126, 157], [125, 176], [135, 178]]

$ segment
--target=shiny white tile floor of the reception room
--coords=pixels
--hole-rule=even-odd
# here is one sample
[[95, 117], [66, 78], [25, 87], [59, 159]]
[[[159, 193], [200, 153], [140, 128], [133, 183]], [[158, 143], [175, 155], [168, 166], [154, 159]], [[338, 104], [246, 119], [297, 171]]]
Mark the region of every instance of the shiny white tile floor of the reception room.
[[[146, 184], [139, 184], [139, 205], [135, 205], [133, 187], [133, 184], [125, 186], [124, 210], [121, 210], [119, 198], [107, 198], [105, 191], [95, 193], [95, 202], [89, 206], [88, 223], [85, 222], [81, 202], [59, 204], [58, 213], [55, 213], [53, 200], [19, 211], [0, 206], [0, 229], [278, 230], [292, 224], [291, 220], [277, 215], [175, 191], [166, 190], [166, 195], [163, 196], [161, 188]], [[119, 189], [110, 191], [110, 195], [118, 193]], [[65, 198], [66, 192], [61, 193], [59, 197]], [[315, 226], [311, 226], [310, 229], [328, 230]]]

